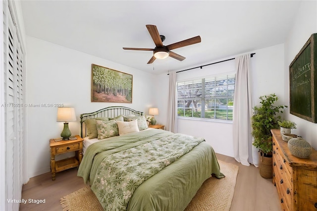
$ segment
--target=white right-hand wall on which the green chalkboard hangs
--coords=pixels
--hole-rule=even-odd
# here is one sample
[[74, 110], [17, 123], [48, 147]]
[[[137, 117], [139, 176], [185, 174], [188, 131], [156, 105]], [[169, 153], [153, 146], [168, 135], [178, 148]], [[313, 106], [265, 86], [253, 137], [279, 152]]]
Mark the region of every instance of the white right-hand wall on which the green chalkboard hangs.
[[[285, 42], [284, 93], [287, 96], [285, 99], [287, 105], [289, 105], [289, 65], [314, 33], [317, 33], [317, 1], [302, 1]], [[317, 124], [290, 114], [289, 108], [286, 113], [286, 119], [297, 124], [297, 129], [292, 133], [301, 135], [317, 150]]]

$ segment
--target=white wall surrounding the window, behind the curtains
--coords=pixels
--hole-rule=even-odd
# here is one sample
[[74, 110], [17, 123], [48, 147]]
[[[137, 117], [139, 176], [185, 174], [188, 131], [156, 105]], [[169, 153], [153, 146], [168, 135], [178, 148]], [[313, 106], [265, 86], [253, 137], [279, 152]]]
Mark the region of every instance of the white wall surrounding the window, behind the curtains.
[[[259, 97], [275, 93], [280, 97], [280, 102], [285, 99], [284, 95], [284, 45], [276, 45], [265, 49], [253, 51], [256, 53], [251, 58], [251, 68], [254, 81], [254, 102], [259, 105]], [[232, 56], [235, 57], [235, 56]], [[231, 57], [230, 57], [231, 58]], [[225, 60], [224, 58], [223, 60]], [[215, 61], [211, 61], [213, 63]], [[203, 64], [198, 64], [203, 65]], [[185, 80], [191, 78], [199, 78], [213, 74], [221, 74], [225, 72], [235, 71], [235, 60], [230, 60], [218, 64], [188, 70], [177, 73], [177, 80]], [[157, 104], [159, 110], [163, 111], [157, 117], [159, 123], [166, 124], [167, 122], [167, 102], [168, 96], [168, 75], [159, 75], [159, 93], [157, 93]], [[199, 136], [206, 139], [211, 144], [216, 153], [233, 157], [233, 134], [232, 123], [211, 122], [189, 119], [178, 119], [178, 132]]]

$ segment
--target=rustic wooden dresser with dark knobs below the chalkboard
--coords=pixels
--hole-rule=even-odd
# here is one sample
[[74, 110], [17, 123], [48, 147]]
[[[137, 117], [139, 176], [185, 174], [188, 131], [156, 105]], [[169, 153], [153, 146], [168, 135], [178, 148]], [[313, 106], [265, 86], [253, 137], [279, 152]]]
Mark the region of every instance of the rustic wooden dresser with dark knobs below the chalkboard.
[[317, 151], [309, 158], [293, 156], [279, 129], [273, 134], [273, 184], [284, 211], [317, 211]]

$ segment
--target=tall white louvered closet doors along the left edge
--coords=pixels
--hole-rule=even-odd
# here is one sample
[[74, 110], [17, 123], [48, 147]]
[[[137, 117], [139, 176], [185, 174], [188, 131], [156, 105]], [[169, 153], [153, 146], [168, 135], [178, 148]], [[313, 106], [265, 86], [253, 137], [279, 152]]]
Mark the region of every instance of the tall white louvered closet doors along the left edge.
[[[23, 185], [24, 143], [24, 57], [16, 24], [10, 13], [7, 0], [2, 3], [3, 22], [3, 79], [4, 93], [0, 93], [4, 104], [5, 183], [4, 199], [6, 211], [18, 211], [19, 203], [9, 200], [21, 199]], [[10, 4], [11, 5], [11, 4]], [[12, 5], [11, 5], [12, 6]], [[2, 79], [1, 79], [2, 80]], [[3, 152], [3, 151], [1, 151]], [[2, 199], [1, 199], [2, 200]], [[3, 203], [3, 201], [1, 202]], [[1, 206], [3, 208], [3, 204]]]

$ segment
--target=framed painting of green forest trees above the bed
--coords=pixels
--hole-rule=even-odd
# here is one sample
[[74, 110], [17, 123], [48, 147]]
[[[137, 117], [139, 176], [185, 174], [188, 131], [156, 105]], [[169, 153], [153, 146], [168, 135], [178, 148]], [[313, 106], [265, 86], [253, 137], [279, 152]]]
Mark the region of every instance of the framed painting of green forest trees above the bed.
[[132, 75], [91, 65], [91, 102], [132, 103]]

